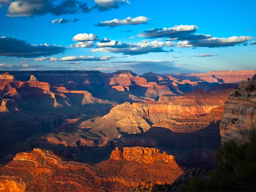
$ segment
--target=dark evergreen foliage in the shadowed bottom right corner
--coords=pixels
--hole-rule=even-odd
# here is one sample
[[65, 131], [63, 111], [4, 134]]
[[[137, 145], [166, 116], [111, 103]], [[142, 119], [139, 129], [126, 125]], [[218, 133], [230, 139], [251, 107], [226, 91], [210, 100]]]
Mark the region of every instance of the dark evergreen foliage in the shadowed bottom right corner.
[[224, 142], [216, 151], [218, 163], [209, 178], [192, 178], [180, 191], [256, 191], [256, 132], [250, 130], [250, 141], [238, 144]]

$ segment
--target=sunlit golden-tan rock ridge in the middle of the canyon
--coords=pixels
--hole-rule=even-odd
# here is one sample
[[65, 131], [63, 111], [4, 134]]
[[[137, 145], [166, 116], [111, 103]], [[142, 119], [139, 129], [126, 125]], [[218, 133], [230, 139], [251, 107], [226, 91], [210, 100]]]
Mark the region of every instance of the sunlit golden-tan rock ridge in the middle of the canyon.
[[[224, 106], [229, 92], [222, 91], [215, 94], [204, 92], [201, 89], [190, 95], [165, 98], [168, 102], [124, 102], [115, 106], [110, 113], [95, 120], [87, 120], [80, 126], [87, 128], [119, 129], [120, 133], [135, 134], [146, 132], [152, 126], [165, 118], [196, 118], [204, 116], [213, 108]], [[162, 100], [161, 100], [162, 101]], [[114, 134], [113, 134], [114, 136]]]

